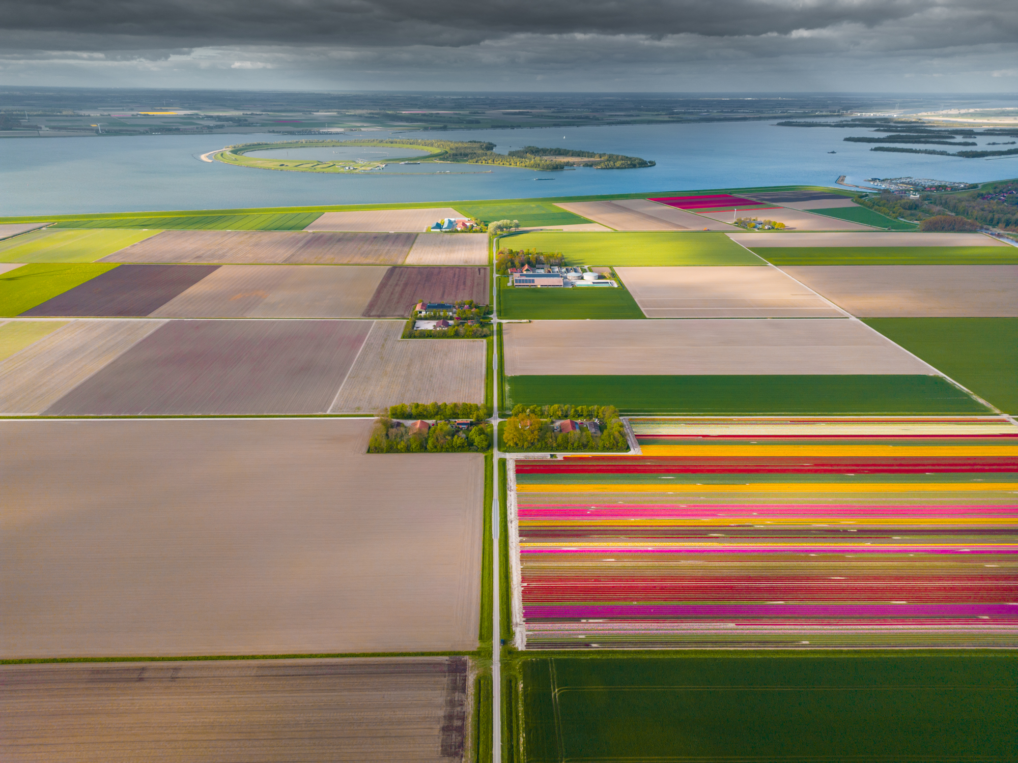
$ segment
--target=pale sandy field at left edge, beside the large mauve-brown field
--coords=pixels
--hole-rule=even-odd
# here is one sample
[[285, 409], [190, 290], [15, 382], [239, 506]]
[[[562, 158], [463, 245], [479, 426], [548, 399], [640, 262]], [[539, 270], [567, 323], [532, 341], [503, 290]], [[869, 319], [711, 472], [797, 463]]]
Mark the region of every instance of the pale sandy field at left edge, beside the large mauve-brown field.
[[43, 336], [0, 361], [0, 413], [41, 413], [165, 322], [72, 320]]

